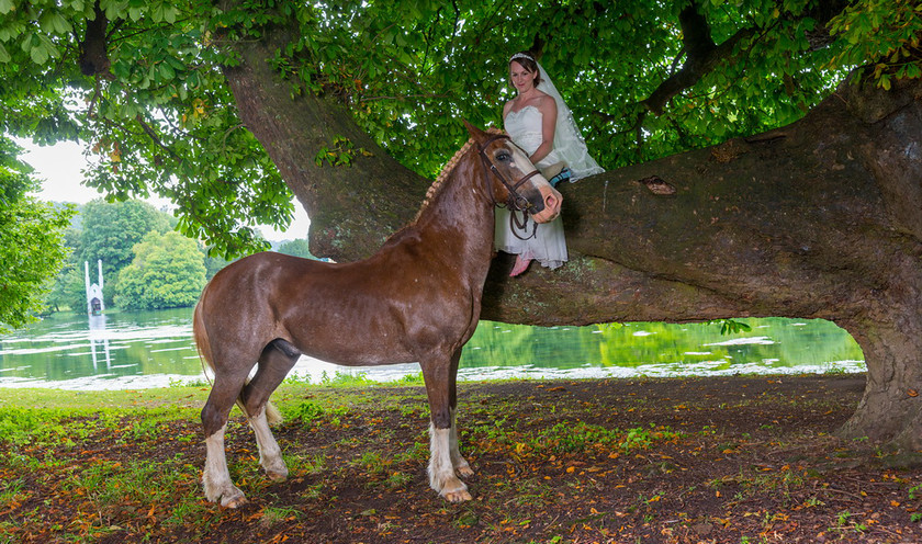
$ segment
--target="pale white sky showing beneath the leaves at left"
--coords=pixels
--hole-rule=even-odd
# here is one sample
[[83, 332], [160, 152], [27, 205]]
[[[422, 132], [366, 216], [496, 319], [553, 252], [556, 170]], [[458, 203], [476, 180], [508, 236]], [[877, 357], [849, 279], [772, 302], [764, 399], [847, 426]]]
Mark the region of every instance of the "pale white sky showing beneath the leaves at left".
[[[35, 177], [42, 180], [42, 191], [37, 196], [49, 202], [72, 202], [85, 204], [93, 199], [102, 196], [95, 189], [88, 188], [81, 182], [83, 174], [80, 173], [87, 166], [83, 158], [83, 148], [74, 141], [63, 141], [54, 146], [36, 146], [29, 140], [16, 139], [16, 143], [25, 148], [21, 156], [22, 160], [29, 162], [35, 169]], [[170, 207], [169, 201], [165, 199], [148, 199], [157, 209], [164, 206]], [[297, 201], [294, 202], [294, 219], [285, 231], [278, 231], [271, 227], [262, 226], [262, 236], [270, 241], [293, 240], [306, 238], [307, 227], [311, 220], [307, 213]]]

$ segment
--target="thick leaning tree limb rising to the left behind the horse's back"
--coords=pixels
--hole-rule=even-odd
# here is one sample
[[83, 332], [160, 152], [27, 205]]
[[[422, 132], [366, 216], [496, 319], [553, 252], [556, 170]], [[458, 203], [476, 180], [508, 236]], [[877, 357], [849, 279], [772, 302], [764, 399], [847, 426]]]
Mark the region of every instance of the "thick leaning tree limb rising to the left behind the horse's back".
[[[311, 252], [367, 257], [415, 215], [430, 181], [389, 157], [335, 97], [312, 95], [279, 77], [267, 59], [295, 42], [291, 32], [270, 26], [262, 39], [235, 42], [241, 61], [225, 76], [244, 124], [311, 217]], [[317, 165], [324, 149], [348, 152], [351, 166], [331, 166], [324, 157]]]

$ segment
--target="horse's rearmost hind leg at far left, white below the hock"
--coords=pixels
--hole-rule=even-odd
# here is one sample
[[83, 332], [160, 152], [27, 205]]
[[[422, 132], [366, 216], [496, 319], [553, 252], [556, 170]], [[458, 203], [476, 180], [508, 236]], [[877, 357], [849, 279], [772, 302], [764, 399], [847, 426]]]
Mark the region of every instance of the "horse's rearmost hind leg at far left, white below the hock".
[[244, 492], [234, 486], [231, 473], [227, 471], [224, 430], [227, 427], [227, 417], [244, 387], [248, 373], [249, 369], [240, 369], [234, 373], [215, 372], [209, 400], [202, 409], [206, 449], [202, 485], [209, 500], [212, 502], [220, 500], [221, 506], [227, 508], [236, 508], [246, 502]]

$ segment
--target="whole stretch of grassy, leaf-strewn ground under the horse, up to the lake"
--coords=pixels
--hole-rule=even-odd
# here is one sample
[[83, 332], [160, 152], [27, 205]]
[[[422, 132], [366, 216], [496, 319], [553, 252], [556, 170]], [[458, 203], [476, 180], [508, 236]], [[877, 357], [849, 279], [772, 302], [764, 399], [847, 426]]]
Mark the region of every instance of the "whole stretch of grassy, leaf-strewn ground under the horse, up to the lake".
[[[713, 400], [679, 398], [679, 382], [665, 386], [663, 401], [642, 397], [637, 384], [620, 393], [600, 382], [465, 386], [461, 442], [477, 474], [469, 481], [474, 500], [461, 506], [428, 489], [428, 407], [418, 384], [290, 381], [273, 396], [286, 418], [276, 434], [288, 481], [263, 476], [235, 408], [228, 463], [251, 501], [235, 511], [205, 501], [199, 481], [207, 388], [9, 389], [0, 400], [0, 543], [294, 542], [316, 526], [325, 542], [401, 542], [420, 532], [423, 542], [645, 542], [648, 532], [695, 536], [702, 522], [713, 533], [698, 540], [729, 531], [718, 541], [760, 542], [763, 532], [813, 519], [809, 536], [879, 536], [870, 512], [854, 503], [865, 491], [881, 520], [918, 523], [919, 473], [840, 460], [820, 432], [829, 421], [801, 430], [811, 423], [803, 412], [846, 417], [847, 399], [756, 396], [764, 378], [750, 379], [746, 395], [726, 389]], [[791, 407], [801, 411], [786, 418]], [[795, 419], [799, 427], [788, 423]], [[817, 451], [829, 457], [817, 460]], [[843, 487], [851, 481], [859, 487]], [[717, 518], [732, 523], [724, 529]]]

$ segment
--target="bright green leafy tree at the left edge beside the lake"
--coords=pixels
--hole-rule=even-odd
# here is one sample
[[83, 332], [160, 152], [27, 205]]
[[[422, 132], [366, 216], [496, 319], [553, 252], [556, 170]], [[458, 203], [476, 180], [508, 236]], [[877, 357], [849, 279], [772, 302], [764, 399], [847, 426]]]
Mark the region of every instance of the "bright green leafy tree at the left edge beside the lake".
[[64, 229], [74, 211], [30, 196], [38, 183], [20, 152], [0, 138], [0, 333], [30, 322], [43, 308], [50, 279], [67, 257]]

